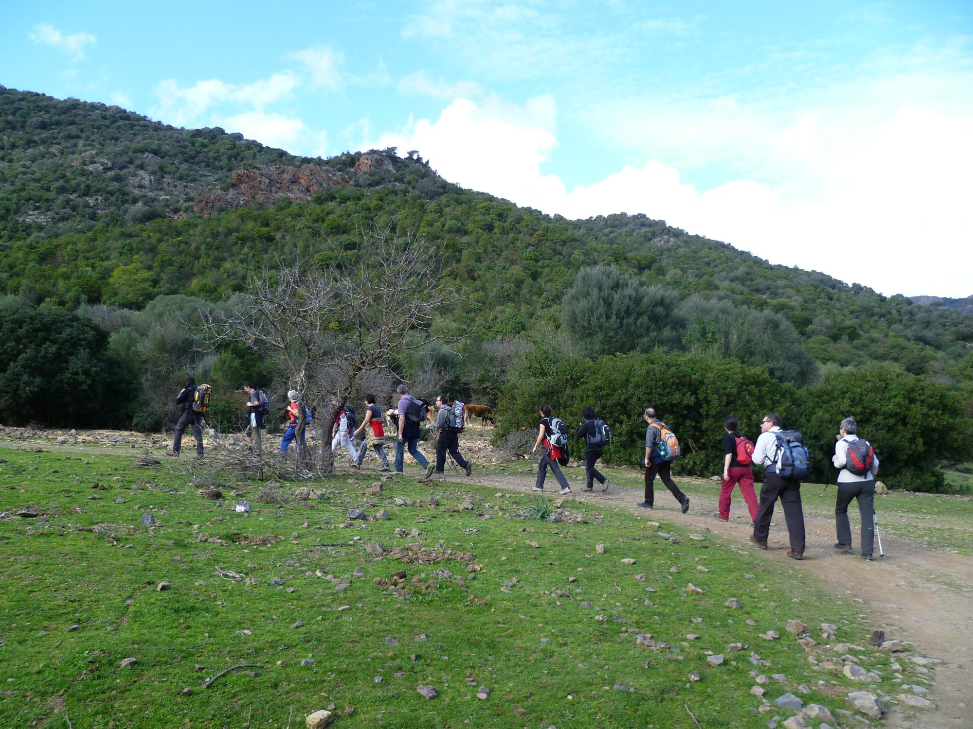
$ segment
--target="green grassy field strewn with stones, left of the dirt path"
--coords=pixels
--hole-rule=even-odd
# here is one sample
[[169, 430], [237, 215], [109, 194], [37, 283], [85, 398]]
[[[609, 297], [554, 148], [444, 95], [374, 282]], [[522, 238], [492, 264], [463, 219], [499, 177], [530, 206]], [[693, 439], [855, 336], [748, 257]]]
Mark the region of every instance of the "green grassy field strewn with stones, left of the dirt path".
[[[225, 482], [213, 501], [168, 463], [131, 468], [127, 449], [31, 447], [0, 444], [0, 510], [43, 512], [0, 523], [4, 726], [284, 727], [334, 704], [336, 726], [689, 729], [691, 711], [702, 727], [765, 727], [792, 712], [758, 712], [758, 673], [784, 676], [765, 699], [806, 684], [805, 704], [832, 712], [867, 687], [814, 666], [784, 628], [799, 619], [819, 638], [834, 623], [838, 641], [864, 645], [853, 604], [801, 566], [665, 521], [570, 501], [584, 523], [531, 521], [526, 496], [411, 479], [366, 497], [365, 475], [312, 484], [320, 500], [296, 501], [295, 484], [266, 501], [266, 484]], [[234, 511], [240, 499], [252, 513]], [[391, 518], [348, 521], [351, 506]], [[154, 527], [140, 523], [147, 512]], [[891, 677], [887, 654], [852, 652]], [[201, 686], [238, 663], [262, 668]], [[438, 697], [423, 699], [423, 684]]]

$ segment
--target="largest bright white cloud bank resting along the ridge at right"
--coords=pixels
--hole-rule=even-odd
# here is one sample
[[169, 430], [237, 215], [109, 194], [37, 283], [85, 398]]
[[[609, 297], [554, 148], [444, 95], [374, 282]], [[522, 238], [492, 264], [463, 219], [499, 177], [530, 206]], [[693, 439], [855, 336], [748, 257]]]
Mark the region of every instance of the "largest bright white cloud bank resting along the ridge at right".
[[550, 214], [645, 213], [884, 294], [973, 293], [958, 264], [973, 244], [973, 115], [904, 106], [847, 142], [805, 115], [769, 134], [772, 149], [802, 165], [780, 182], [740, 178], [701, 191], [652, 160], [567, 191], [541, 171], [558, 143], [556, 113], [547, 96], [523, 107], [458, 100], [438, 120], [410, 121], [371, 146], [416, 149], [452, 182]]

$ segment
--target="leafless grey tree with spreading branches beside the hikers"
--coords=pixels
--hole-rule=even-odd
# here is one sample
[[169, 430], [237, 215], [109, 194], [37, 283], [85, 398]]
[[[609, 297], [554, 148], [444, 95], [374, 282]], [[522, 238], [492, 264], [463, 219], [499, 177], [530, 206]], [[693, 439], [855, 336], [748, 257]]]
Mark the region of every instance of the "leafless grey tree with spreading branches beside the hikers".
[[[242, 342], [270, 354], [291, 386], [319, 409], [317, 469], [334, 470], [331, 425], [353, 393], [390, 374], [397, 358], [441, 339], [437, 309], [455, 296], [442, 285], [433, 247], [398, 226], [360, 230], [362, 246], [347, 267], [317, 270], [300, 258], [264, 270], [229, 312], [203, 315], [211, 346]], [[300, 419], [298, 443], [305, 429]]]

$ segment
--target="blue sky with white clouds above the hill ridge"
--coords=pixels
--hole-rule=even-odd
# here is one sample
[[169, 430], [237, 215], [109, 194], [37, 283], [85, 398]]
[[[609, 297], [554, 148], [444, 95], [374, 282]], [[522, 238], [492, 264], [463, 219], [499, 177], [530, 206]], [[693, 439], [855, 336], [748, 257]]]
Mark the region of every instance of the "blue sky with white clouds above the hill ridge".
[[304, 155], [397, 146], [885, 294], [973, 294], [960, 2], [6, 3], [0, 84]]

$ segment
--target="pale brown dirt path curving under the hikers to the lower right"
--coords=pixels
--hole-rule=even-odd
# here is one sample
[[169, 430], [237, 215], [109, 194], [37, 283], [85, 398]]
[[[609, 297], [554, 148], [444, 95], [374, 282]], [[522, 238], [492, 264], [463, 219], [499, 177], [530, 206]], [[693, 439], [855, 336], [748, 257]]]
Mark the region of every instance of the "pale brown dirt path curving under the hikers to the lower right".
[[[737, 494], [729, 523], [712, 517], [717, 510], [715, 499], [692, 497], [687, 514], [680, 513], [679, 504], [665, 487], [656, 488], [656, 508], [639, 508], [640, 491], [612, 487], [608, 493], [597, 490], [583, 493], [576, 483], [575, 473], [569, 472], [573, 492], [570, 498], [584, 502], [605, 503], [627, 508], [657, 521], [684, 524], [696, 530], [708, 529], [720, 537], [747, 542], [752, 529], [745, 505]], [[450, 483], [477, 483], [503, 491], [529, 491], [533, 476], [516, 474], [477, 474], [469, 481], [462, 477], [448, 477]], [[554, 498], [557, 491], [547, 489]], [[935, 710], [915, 710], [907, 717], [900, 712], [889, 715], [889, 727], [973, 727], [973, 707], [968, 665], [973, 659], [973, 593], [962, 588], [973, 584], [973, 558], [936, 552], [898, 538], [884, 538], [884, 558], [874, 562], [836, 554], [834, 520], [806, 516], [806, 559], [790, 560], [787, 530], [779, 506], [775, 511], [775, 527], [771, 530], [769, 556], [789, 563], [798, 571], [808, 571], [820, 579], [828, 589], [845, 599], [862, 601], [862, 610], [873, 625], [883, 628], [889, 638], [916, 643], [924, 655], [943, 661], [931, 670], [933, 685], [929, 699]], [[858, 537], [855, 535], [855, 543]], [[901, 693], [894, 684], [883, 685], [891, 695]]]

